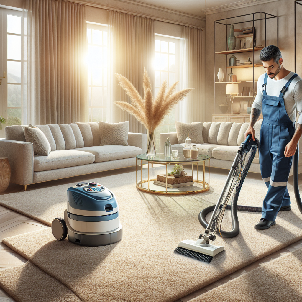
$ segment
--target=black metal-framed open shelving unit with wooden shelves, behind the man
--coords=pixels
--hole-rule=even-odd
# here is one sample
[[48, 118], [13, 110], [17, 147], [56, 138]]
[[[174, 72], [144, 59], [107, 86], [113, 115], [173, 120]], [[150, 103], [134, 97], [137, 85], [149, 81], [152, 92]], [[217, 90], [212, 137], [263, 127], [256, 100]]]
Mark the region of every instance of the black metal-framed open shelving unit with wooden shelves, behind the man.
[[[230, 26], [234, 26], [235, 37], [236, 37], [236, 47], [234, 50], [229, 50], [227, 46], [227, 40], [230, 34]], [[238, 31], [244, 27], [252, 27], [253, 32], [249, 34], [242, 34]], [[231, 112], [230, 98], [226, 95], [226, 84], [236, 83], [239, 85], [239, 94], [234, 97], [233, 102], [233, 112], [238, 112], [237, 108], [240, 107], [240, 98], [243, 99], [244, 104], [248, 102], [248, 107], [251, 107], [252, 102], [255, 99], [255, 93], [257, 92], [257, 80], [260, 74], [264, 73], [265, 70], [262, 67], [262, 62], [259, 59], [260, 51], [263, 47], [267, 45], [276, 45], [278, 46], [278, 17], [265, 12], [256, 12], [251, 14], [245, 14], [240, 16], [235, 16], [231, 18], [225, 18], [214, 21], [214, 106], [215, 114], [224, 114], [222, 112], [225, 106], [220, 107], [219, 105], [229, 104], [227, 113]], [[268, 32], [268, 37], [267, 37]], [[239, 35], [236, 35], [238, 34]], [[253, 47], [249, 48], [240, 48], [240, 39], [252, 37], [250, 45]], [[268, 43], [268, 44], [267, 44]], [[249, 46], [249, 45], [248, 45]], [[257, 47], [259, 46], [259, 47]], [[229, 66], [230, 56], [237, 54], [236, 60], [240, 59], [239, 63], [236, 63], [235, 66]], [[250, 57], [252, 64], [244, 65]], [[224, 70], [224, 82], [218, 82], [217, 73], [219, 68]], [[234, 70], [234, 72], [233, 72]], [[236, 74], [236, 82], [230, 82], [228, 74], [232, 71]], [[236, 71], [236, 72], [235, 72]], [[251, 96], [240, 96], [243, 87], [250, 87], [250, 90], [253, 92]], [[248, 89], [249, 90], [249, 89]], [[247, 91], [248, 91], [247, 90]], [[220, 109], [222, 108], [222, 109]], [[226, 114], [227, 114], [226, 113]], [[243, 112], [240, 112], [243, 113]], [[245, 112], [246, 114], [246, 112]]]

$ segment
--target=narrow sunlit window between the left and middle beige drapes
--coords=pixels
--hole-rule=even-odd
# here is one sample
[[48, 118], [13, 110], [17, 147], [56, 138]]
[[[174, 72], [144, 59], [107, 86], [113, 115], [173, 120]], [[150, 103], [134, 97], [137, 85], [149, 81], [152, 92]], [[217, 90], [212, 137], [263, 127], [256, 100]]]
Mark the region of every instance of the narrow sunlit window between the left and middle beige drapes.
[[89, 122], [107, 118], [107, 27], [87, 22]]

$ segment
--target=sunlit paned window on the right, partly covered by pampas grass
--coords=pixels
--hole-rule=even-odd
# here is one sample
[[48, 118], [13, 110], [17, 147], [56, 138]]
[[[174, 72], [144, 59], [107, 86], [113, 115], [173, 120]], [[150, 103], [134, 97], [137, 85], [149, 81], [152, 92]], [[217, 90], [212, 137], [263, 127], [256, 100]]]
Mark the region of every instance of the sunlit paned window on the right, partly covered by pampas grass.
[[[179, 80], [179, 62], [180, 62], [180, 40], [176, 38], [155, 37], [155, 93], [166, 80], [168, 87]], [[179, 86], [179, 85], [178, 85]], [[176, 89], [179, 89], [177, 87]], [[175, 108], [169, 115], [165, 116], [162, 124], [155, 130], [156, 153], [159, 153], [159, 134], [175, 132]]]

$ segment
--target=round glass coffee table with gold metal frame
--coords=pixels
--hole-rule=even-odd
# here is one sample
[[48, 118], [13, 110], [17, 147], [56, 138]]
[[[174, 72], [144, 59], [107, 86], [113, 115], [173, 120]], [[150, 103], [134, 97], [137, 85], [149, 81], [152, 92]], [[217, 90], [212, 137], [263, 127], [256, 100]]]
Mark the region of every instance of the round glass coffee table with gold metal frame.
[[[205, 173], [204, 167], [205, 162], [208, 161], [208, 182], [205, 182]], [[143, 162], [148, 163], [148, 179], [143, 179]], [[198, 180], [198, 163], [203, 166], [203, 178], [202, 180]], [[149, 165], [159, 164], [165, 165], [166, 172], [164, 175], [157, 175], [157, 178], [150, 178], [150, 168]], [[182, 165], [185, 169], [185, 172], [188, 175], [191, 174], [190, 182], [186, 182], [185, 186], [171, 185], [168, 182], [168, 173], [172, 171], [172, 165]], [[137, 181], [138, 165], [140, 165], [140, 181]], [[196, 165], [196, 172], [194, 171], [194, 165]], [[169, 170], [168, 171], [168, 167]], [[196, 177], [194, 179], [194, 172], [196, 173]], [[160, 177], [160, 178], [159, 178]], [[171, 176], [170, 178], [174, 178]], [[160, 181], [158, 181], [160, 179]], [[177, 180], [175, 180], [177, 181]], [[140, 154], [136, 157], [136, 187], [145, 192], [152, 192], [156, 194], [173, 194], [173, 195], [181, 195], [181, 194], [194, 194], [208, 191], [210, 189], [210, 156], [207, 155], [198, 155], [197, 159], [184, 158], [182, 154], [179, 154], [177, 158], [174, 157], [165, 157], [164, 154], [156, 154], [153, 157], [147, 157], [146, 154]]]

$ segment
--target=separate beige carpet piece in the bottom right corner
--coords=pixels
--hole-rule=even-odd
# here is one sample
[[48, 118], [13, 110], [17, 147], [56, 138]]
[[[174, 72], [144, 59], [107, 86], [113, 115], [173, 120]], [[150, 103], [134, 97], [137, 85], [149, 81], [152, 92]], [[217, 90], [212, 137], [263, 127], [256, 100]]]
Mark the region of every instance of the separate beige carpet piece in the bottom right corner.
[[302, 248], [262, 264], [190, 302], [301, 302]]

